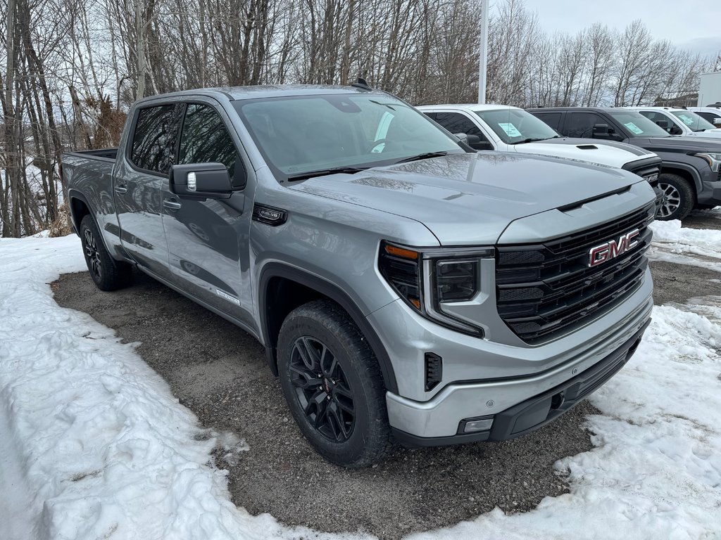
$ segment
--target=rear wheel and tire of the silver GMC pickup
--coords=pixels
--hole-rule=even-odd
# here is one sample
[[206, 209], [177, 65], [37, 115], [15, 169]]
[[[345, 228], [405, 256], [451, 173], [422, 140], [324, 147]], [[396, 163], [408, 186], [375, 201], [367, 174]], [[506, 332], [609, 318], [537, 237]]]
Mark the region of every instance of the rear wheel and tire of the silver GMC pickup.
[[115, 291], [127, 287], [133, 269], [125, 261], [115, 261], [105, 248], [105, 243], [91, 215], [80, 222], [80, 240], [90, 277], [101, 291]]

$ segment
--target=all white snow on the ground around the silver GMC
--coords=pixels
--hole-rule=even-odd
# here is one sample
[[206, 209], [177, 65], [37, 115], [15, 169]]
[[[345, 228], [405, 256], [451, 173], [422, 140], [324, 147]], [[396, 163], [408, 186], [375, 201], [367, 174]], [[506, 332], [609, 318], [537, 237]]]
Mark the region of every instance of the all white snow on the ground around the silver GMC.
[[[659, 249], [721, 258], [717, 231], [653, 227]], [[200, 428], [132, 345], [53, 301], [49, 282], [84, 269], [74, 236], [0, 240], [0, 539], [353, 537], [236, 508], [211, 451], [242, 439]], [[721, 540], [720, 305], [655, 307], [590, 397], [595, 448], [556, 465], [570, 493], [412, 539]]]

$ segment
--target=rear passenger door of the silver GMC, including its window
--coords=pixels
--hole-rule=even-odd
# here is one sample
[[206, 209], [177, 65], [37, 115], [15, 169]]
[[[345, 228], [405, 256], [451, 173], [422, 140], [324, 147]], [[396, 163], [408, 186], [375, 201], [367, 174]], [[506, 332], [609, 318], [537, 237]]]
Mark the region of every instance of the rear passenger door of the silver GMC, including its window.
[[113, 186], [123, 248], [143, 269], [168, 280], [161, 192], [167, 189], [180, 120], [177, 104], [136, 109]]

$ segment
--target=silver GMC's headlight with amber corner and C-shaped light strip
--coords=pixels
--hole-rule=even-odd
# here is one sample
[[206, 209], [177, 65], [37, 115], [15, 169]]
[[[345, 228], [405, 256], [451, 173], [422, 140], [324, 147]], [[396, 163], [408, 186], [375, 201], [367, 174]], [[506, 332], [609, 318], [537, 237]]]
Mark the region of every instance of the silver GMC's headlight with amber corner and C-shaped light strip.
[[493, 257], [493, 248], [419, 250], [384, 241], [379, 270], [399, 297], [420, 315], [483, 336], [481, 328], [459, 320], [446, 308], [474, 300], [480, 292], [481, 260]]

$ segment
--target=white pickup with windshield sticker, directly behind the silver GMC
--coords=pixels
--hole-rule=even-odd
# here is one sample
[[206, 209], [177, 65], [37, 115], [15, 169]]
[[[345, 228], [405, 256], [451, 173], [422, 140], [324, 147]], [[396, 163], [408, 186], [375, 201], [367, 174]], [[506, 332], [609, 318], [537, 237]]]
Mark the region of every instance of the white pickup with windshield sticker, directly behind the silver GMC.
[[451, 133], [479, 140], [469, 144], [477, 150], [501, 150], [588, 161], [624, 168], [658, 184], [661, 159], [637, 146], [609, 141], [588, 144], [585, 139], [562, 137], [545, 122], [518, 107], [507, 105], [423, 105], [417, 107]]

